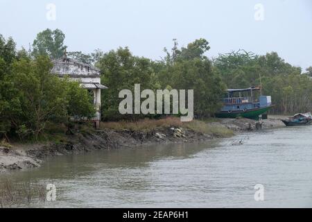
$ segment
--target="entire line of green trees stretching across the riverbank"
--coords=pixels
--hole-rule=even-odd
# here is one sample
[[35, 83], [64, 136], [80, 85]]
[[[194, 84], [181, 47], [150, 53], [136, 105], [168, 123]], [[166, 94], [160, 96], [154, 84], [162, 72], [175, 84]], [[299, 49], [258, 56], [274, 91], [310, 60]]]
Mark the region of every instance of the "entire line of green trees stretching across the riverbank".
[[[68, 79], [51, 75], [51, 60], [63, 56], [64, 33], [46, 29], [37, 34], [32, 49], [17, 51], [12, 38], [0, 35], [0, 136], [39, 137], [49, 123], [66, 123], [69, 117], [94, 116], [92, 99], [86, 89]], [[257, 56], [239, 50], [205, 56], [209, 42], [198, 39], [179, 47], [164, 49], [164, 58], [150, 60], [133, 56], [125, 48], [94, 53], [68, 52], [73, 59], [101, 69], [103, 120], [139, 119], [143, 115], [119, 114], [119, 91], [134, 89], [194, 89], [194, 114], [213, 117], [220, 109], [225, 89], [262, 85], [262, 93], [272, 96], [271, 112], [288, 114], [311, 110], [312, 67], [300, 67], [279, 58], [277, 53]], [[157, 118], [157, 115], [150, 115]]]

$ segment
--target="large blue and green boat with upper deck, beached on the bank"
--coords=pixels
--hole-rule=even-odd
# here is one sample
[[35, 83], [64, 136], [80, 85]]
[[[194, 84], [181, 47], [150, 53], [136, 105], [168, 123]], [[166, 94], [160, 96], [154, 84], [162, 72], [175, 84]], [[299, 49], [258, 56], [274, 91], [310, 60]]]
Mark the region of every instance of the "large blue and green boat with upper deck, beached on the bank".
[[246, 89], [227, 89], [223, 107], [215, 115], [218, 118], [245, 117], [266, 119], [266, 112], [272, 108], [271, 96], [262, 96], [261, 87]]

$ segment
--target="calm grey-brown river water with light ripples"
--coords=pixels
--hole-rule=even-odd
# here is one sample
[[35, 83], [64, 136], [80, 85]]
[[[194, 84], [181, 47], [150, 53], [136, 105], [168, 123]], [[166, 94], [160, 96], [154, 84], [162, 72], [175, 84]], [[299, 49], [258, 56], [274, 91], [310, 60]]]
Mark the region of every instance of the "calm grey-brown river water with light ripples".
[[[285, 127], [209, 144], [94, 151], [9, 177], [56, 186], [56, 200], [35, 207], [312, 207], [311, 135], [312, 126]], [[264, 200], [256, 201], [258, 184]]]

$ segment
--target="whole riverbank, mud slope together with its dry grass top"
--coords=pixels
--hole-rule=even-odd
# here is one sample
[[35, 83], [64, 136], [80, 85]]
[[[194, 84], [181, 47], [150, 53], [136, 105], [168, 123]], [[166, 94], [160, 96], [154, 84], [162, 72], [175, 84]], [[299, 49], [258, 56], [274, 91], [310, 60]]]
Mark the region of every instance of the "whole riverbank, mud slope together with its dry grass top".
[[[263, 120], [261, 128], [284, 126], [281, 117]], [[58, 142], [0, 146], [0, 173], [40, 167], [46, 158], [100, 149], [127, 148], [151, 144], [209, 142], [211, 139], [257, 130], [252, 119], [208, 119], [181, 123], [178, 118], [144, 120], [135, 123], [103, 123], [100, 130], [76, 131]]]

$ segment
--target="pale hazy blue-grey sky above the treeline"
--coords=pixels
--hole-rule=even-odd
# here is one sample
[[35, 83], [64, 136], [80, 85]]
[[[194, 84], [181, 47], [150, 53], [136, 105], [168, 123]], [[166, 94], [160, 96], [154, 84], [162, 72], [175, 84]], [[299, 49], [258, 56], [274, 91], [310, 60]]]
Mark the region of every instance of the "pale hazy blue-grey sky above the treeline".
[[[55, 20], [46, 17], [49, 3]], [[277, 51], [292, 65], [312, 66], [311, 0], [0, 0], [0, 33], [19, 48], [28, 49], [46, 28], [65, 33], [68, 51], [129, 46], [136, 56], [159, 59], [173, 38], [186, 46], [203, 37], [210, 58], [238, 49]]]

